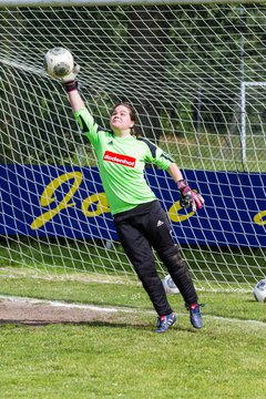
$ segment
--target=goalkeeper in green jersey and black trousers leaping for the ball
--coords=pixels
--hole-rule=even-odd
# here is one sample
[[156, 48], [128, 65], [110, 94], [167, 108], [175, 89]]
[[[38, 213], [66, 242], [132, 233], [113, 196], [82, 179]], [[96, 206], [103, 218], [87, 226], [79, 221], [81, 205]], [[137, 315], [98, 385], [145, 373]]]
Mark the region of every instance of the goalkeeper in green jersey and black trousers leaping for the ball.
[[135, 112], [131, 104], [114, 106], [110, 130], [100, 127], [78, 91], [79, 65], [63, 78], [74, 116], [96, 153], [103, 188], [121, 244], [157, 313], [156, 332], [166, 331], [175, 321], [162, 280], [157, 275], [154, 248], [184, 298], [191, 324], [202, 327], [197, 294], [187, 265], [171, 236], [167, 216], [144, 178], [145, 163], [166, 170], [177, 184], [181, 205], [196, 212], [204, 200], [184, 181], [174, 161], [146, 139], [135, 137]]

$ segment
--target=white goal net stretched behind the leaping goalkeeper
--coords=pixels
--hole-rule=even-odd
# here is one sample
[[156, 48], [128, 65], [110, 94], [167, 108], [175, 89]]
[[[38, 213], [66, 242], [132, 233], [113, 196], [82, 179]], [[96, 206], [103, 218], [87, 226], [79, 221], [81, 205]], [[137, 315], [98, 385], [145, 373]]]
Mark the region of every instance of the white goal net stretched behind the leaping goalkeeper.
[[264, 278], [265, 12], [259, 1], [1, 1], [1, 274], [135, 280], [93, 150], [43, 71], [44, 53], [62, 45], [99, 124], [131, 101], [137, 131], [203, 194], [196, 215], [181, 209], [171, 176], [146, 170], [197, 288]]

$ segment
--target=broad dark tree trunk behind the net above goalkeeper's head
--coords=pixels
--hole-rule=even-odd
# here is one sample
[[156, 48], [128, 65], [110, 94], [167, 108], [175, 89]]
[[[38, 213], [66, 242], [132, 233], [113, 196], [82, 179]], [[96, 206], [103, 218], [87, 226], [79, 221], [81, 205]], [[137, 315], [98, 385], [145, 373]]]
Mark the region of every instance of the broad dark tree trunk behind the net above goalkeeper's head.
[[137, 86], [132, 102], [143, 134], [156, 141], [161, 134], [162, 99], [155, 95], [154, 90], [151, 91], [151, 86], [155, 85], [158, 93], [163, 83], [170, 14], [168, 7], [158, 9], [142, 6], [130, 7], [127, 10], [127, 50], [124, 64], [133, 84]]

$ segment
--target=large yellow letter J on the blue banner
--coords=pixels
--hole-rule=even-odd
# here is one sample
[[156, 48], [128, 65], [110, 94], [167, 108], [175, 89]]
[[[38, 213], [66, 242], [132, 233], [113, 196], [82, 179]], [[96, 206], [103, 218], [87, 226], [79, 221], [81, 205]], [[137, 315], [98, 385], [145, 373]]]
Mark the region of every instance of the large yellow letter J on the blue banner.
[[75, 205], [75, 203], [73, 203], [73, 202], [69, 203], [69, 202], [73, 197], [76, 190], [79, 188], [79, 186], [82, 182], [82, 177], [83, 176], [82, 176], [81, 172], [70, 172], [70, 173], [65, 173], [65, 174], [54, 178], [51, 183], [49, 183], [49, 185], [44, 188], [44, 191], [41, 195], [41, 200], [40, 200], [41, 206], [48, 206], [48, 205], [52, 204], [53, 202], [55, 202], [54, 192], [57, 191], [57, 188], [59, 188], [63, 183], [74, 178], [74, 182], [73, 182], [70, 191], [65, 194], [65, 196], [59, 203], [59, 205], [51, 211], [44, 212], [43, 214], [38, 216], [31, 223], [32, 229], [42, 227], [47, 222], [51, 221], [54, 216], [57, 216], [60, 211], [62, 211], [69, 206]]

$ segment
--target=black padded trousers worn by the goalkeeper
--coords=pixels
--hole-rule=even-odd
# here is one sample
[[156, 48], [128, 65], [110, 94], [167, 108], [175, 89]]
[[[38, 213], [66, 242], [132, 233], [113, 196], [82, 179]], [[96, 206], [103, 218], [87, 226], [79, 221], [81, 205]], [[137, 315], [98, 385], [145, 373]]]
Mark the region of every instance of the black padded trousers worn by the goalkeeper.
[[167, 215], [158, 201], [114, 215], [114, 225], [124, 252], [160, 316], [168, 315], [172, 308], [156, 272], [153, 249], [164, 263], [185, 303], [197, 303], [187, 265], [173, 241]]

